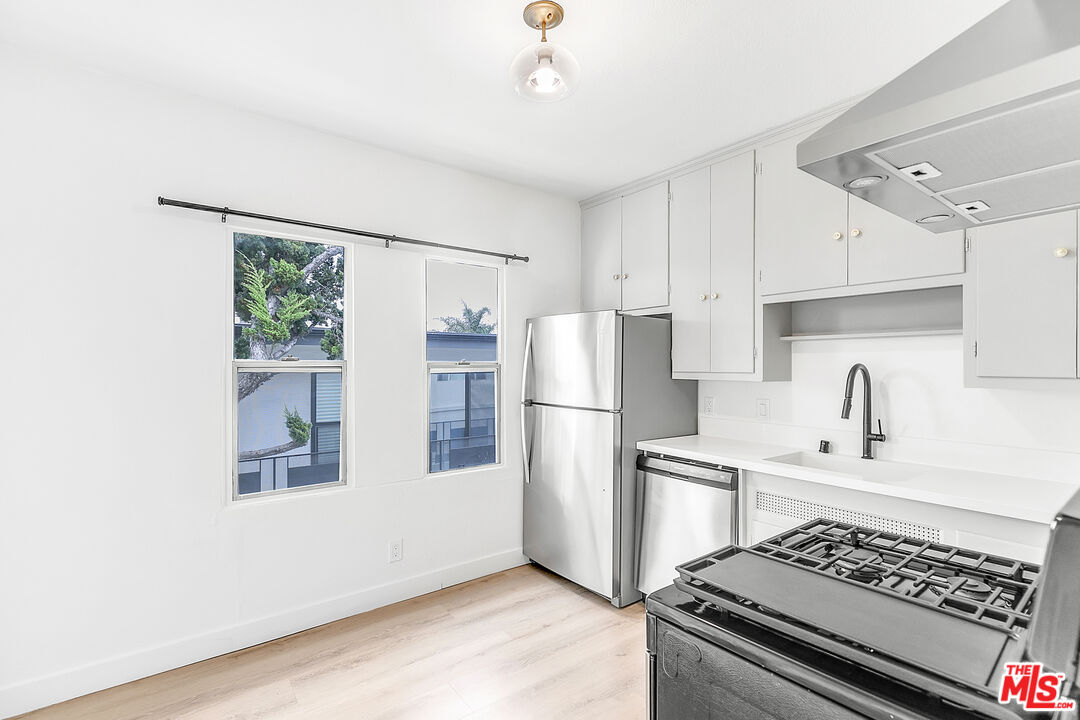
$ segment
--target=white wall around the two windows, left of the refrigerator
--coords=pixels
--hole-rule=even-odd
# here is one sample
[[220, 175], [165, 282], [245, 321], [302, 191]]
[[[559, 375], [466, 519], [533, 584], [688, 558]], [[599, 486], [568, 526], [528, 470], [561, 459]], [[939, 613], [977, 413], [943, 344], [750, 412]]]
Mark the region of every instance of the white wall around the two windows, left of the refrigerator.
[[[0, 46], [0, 717], [521, 562], [523, 321], [578, 308], [577, 203], [50, 63]], [[159, 194], [531, 256], [504, 465], [423, 476], [423, 255], [360, 244], [353, 486], [230, 505], [229, 240]]]

